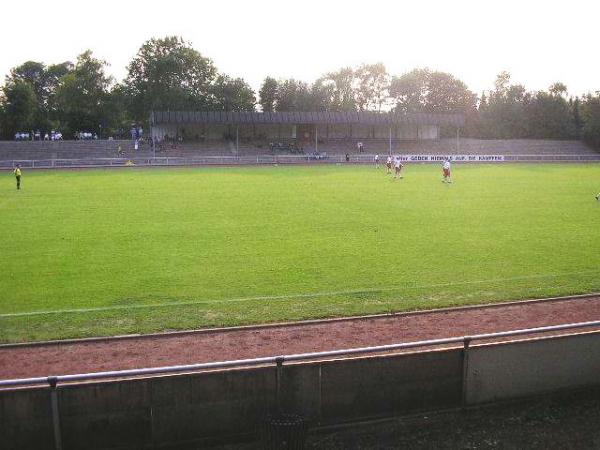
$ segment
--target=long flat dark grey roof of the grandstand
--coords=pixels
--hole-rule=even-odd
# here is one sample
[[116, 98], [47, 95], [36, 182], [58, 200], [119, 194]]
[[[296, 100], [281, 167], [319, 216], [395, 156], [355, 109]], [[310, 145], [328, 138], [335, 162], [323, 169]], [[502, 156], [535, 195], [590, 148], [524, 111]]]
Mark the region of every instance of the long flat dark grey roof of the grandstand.
[[154, 111], [152, 123], [205, 124], [362, 124], [454, 125], [465, 123], [462, 114], [378, 112], [255, 112], [255, 111]]

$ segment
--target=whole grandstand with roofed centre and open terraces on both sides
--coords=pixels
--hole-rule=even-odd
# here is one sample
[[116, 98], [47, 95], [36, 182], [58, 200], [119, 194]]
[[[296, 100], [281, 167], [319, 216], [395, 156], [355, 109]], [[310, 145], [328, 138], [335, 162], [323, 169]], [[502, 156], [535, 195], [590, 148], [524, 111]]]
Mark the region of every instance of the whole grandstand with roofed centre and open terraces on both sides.
[[[150, 116], [151, 138], [137, 144], [113, 139], [0, 141], [0, 167], [16, 162], [26, 167], [104, 165], [108, 160], [118, 165], [119, 160], [129, 159], [148, 164], [152, 158], [164, 157], [254, 157], [256, 161], [259, 155], [315, 153], [349, 154], [353, 162], [370, 161], [367, 155], [376, 153], [487, 154], [509, 160], [517, 160], [517, 155], [524, 156], [519, 160], [600, 158], [577, 140], [465, 138], [461, 136], [464, 122], [462, 114], [440, 113], [156, 111]], [[443, 137], [448, 135], [454, 137]]]

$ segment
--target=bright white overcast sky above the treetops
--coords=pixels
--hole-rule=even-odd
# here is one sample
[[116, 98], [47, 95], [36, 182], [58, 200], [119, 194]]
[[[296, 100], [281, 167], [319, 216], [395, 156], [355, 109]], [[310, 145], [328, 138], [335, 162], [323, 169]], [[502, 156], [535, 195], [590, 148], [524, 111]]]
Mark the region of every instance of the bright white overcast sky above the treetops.
[[597, 0], [33, 0], [2, 14], [2, 83], [26, 60], [74, 61], [88, 48], [120, 80], [146, 39], [175, 34], [255, 89], [267, 75], [312, 82], [383, 62], [391, 74], [450, 72], [477, 93], [502, 70], [528, 89], [600, 90]]

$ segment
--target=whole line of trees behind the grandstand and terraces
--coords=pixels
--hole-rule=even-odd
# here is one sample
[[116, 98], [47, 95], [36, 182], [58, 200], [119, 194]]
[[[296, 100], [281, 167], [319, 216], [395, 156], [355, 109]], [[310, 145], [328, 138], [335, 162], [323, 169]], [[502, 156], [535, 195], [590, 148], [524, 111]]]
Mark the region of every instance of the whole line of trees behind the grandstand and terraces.
[[466, 117], [463, 135], [585, 139], [600, 148], [600, 92], [572, 97], [560, 82], [530, 91], [512, 84], [507, 72], [480, 95], [449, 73], [391, 75], [381, 63], [341, 68], [313, 83], [266, 77], [255, 93], [176, 36], [146, 41], [121, 82], [107, 66], [88, 50], [75, 62], [14, 67], [0, 90], [0, 135], [124, 136], [132, 124], [147, 124], [153, 110], [457, 112]]

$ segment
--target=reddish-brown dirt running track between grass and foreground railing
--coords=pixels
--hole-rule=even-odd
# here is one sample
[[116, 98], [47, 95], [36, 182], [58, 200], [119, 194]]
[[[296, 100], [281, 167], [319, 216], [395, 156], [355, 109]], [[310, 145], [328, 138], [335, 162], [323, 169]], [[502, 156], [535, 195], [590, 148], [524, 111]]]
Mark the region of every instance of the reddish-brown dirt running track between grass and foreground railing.
[[195, 364], [600, 320], [600, 296], [143, 337], [0, 346], [0, 379]]

